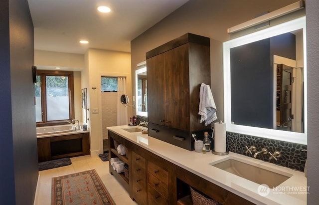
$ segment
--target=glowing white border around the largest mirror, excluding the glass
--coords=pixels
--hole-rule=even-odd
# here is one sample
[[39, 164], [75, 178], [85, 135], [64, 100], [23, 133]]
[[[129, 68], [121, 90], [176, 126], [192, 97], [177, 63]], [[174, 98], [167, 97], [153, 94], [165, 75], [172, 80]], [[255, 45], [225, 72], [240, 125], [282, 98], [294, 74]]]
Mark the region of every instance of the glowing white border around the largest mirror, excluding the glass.
[[[303, 29], [304, 47], [304, 123], [305, 132], [290, 132], [259, 127], [231, 124], [231, 86], [230, 86], [230, 48], [255, 42], [272, 36], [280, 35], [290, 31]], [[306, 16], [265, 28], [254, 33], [241, 36], [223, 43], [224, 63], [224, 118], [228, 132], [252, 135], [268, 139], [287, 141], [307, 145], [307, 50], [306, 50]]]

